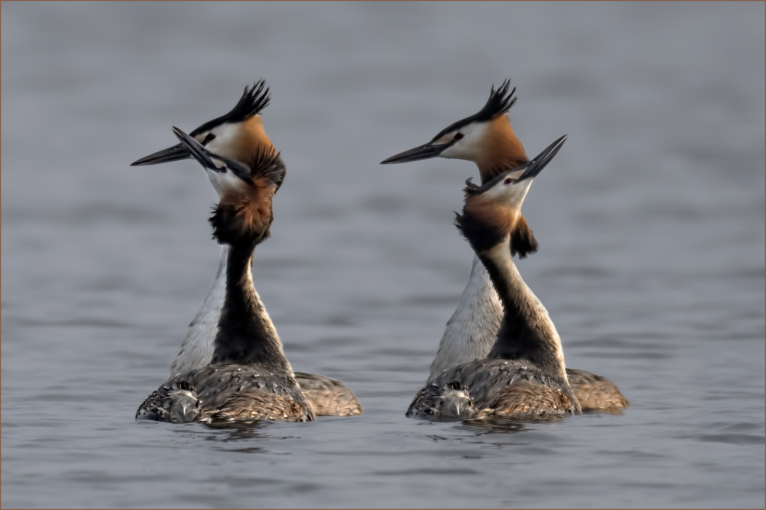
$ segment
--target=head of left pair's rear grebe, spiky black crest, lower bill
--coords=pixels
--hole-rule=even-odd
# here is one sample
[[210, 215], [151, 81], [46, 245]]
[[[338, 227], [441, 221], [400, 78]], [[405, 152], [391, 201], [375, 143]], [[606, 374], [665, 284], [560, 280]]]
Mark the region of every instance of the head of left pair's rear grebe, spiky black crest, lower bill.
[[[274, 150], [264, 131], [260, 112], [270, 101], [269, 89], [264, 80], [245, 87], [237, 106], [226, 115], [213, 119], [189, 133], [195, 141], [214, 154], [238, 161], [249, 161], [264, 148]], [[134, 161], [130, 166], [166, 163], [191, 158], [192, 154], [184, 144], [157, 151]]]

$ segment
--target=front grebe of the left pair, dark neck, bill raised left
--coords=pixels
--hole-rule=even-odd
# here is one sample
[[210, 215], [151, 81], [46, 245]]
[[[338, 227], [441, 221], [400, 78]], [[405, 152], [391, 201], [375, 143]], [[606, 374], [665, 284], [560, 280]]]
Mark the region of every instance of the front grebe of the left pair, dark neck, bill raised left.
[[214, 238], [229, 246], [226, 292], [211, 364], [170, 378], [136, 417], [174, 423], [312, 421], [314, 410], [293, 378], [277, 331], [264, 320], [250, 274], [253, 249], [270, 234], [271, 203], [284, 165], [268, 151], [241, 164], [206, 151], [178, 128], [173, 131], [213, 174], [221, 195], [210, 223]]

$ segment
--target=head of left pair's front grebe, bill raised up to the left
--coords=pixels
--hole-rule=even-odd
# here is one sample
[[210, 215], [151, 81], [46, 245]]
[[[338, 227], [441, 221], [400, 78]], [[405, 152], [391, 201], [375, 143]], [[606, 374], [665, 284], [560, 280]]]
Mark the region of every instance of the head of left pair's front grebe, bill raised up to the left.
[[229, 245], [266, 239], [273, 221], [271, 202], [285, 176], [279, 154], [264, 148], [250, 158], [248, 165], [214, 154], [178, 128], [173, 132], [208, 171], [221, 197], [210, 218], [214, 239]]

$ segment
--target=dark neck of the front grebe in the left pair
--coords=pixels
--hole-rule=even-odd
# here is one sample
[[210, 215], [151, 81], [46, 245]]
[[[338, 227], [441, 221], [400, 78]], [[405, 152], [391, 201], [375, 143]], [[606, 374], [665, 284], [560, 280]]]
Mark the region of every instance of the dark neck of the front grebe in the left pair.
[[290, 371], [277, 330], [253, 286], [250, 265], [257, 241], [232, 243], [226, 268], [226, 297], [215, 337], [213, 363], [263, 363]]

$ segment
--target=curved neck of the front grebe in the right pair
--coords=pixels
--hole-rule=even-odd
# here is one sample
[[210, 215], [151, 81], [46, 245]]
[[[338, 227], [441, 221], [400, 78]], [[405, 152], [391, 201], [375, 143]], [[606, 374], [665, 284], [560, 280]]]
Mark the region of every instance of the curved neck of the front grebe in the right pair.
[[524, 283], [513, 263], [509, 237], [478, 255], [505, 310], [496, 343], [487, 357], [528, 359], [566, 380], [561, 339], [548, 310]]

